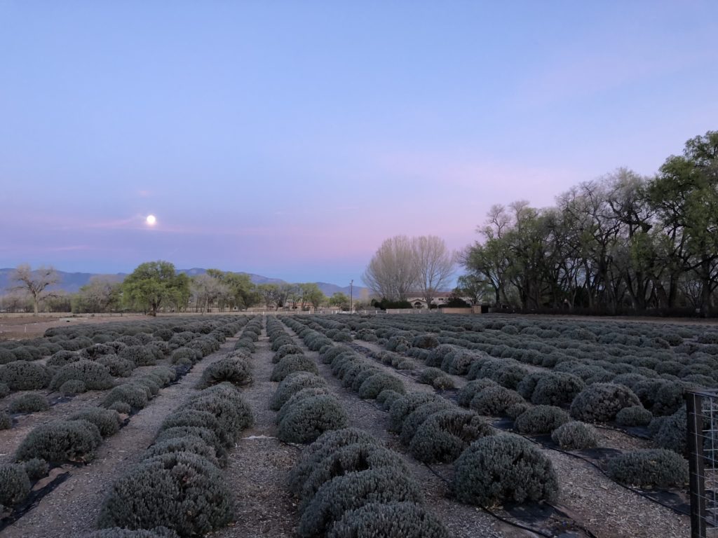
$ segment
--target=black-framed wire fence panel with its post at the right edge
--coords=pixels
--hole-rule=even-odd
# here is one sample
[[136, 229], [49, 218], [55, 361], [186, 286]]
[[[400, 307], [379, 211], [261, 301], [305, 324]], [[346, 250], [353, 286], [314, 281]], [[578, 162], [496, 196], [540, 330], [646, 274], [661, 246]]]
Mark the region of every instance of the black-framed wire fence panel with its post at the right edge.
[[686, 393], [691, 538], [718, 538], [718, 390]]

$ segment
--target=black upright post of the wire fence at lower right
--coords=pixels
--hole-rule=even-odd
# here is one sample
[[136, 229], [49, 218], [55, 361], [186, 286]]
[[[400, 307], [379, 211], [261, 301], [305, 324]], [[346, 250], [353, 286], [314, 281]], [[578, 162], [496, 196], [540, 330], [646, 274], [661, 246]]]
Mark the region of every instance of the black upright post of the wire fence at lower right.
[[689, 484], [691, 494], [691, 538], [706, 538], [705, 470], [703, 461], [703, 397], [686, 393], [688, 413]]

